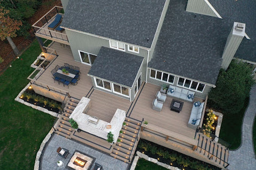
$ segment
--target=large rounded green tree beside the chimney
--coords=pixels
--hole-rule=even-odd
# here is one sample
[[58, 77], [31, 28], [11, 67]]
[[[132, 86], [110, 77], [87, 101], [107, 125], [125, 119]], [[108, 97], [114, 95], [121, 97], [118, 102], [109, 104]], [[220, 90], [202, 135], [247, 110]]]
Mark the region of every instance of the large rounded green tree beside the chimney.
[[252, 70], [249, 64], [237, 60], [230, 63], [227, 71], [221, 69], [216, 88], [209, 93], [210, 103], [228, 114], [239, 112], [255, 83]]

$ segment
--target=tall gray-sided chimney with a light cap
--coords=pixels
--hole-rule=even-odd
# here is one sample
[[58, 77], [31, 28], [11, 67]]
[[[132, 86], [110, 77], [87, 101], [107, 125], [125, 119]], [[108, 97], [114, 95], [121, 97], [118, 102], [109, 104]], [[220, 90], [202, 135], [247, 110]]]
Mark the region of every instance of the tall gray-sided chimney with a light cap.
[[222, 54], [222, 63], [221, 63], [222, 69], [227, 70], [244, 36], [245, 36], [245, 23], [234, 22], [234, 26], [229, 33], [229, 36]]

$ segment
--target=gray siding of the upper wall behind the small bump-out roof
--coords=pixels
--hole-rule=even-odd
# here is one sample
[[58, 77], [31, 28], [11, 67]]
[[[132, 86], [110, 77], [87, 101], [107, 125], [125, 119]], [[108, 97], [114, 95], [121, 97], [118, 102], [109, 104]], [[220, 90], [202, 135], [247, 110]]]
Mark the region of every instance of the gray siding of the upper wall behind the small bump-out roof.
[[[78, 50], [81, 50], [83, 52], [87, 52], [90, 54], [98, 55], [100, 48], [102, 46], [109, 48], [108, 39], [90, 36], [90, 35], [86, 35], [85, 33], [80, 33], [80, 32], [71, 31], [67, 29], [66, 29], [66, 33], [68, 35], [69, 44], [70, 44], [75, 61], [81, 62]], [[147, 57], [148, 55], [147, 49], [140, 48], [139, 53], [129, 52], [127, 49], [128, 49], [128, 46], [125, 45], [126, 53], [139, 55], [142, 57]]]

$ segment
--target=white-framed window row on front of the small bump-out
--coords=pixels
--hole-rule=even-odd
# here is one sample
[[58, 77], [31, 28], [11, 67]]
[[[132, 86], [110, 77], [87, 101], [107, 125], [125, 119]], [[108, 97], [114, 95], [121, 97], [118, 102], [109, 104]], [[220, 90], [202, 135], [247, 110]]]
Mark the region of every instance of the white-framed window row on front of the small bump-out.
[[118, 84], [110, 83], [105, 80], [94, 78], [96, 87], [114, 92], [125, 97], [130, 97], [129, 88], [120, 86]]

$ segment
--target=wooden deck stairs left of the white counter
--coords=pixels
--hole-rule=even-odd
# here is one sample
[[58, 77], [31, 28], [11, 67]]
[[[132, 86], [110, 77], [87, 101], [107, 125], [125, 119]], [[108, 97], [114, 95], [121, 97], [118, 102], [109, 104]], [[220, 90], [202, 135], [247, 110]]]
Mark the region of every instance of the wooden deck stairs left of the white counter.
[[59, 117], [56, 133], [64, 135], [67, 138], [71, 138], [70, 135], [73, 133], [74, 129], [71, 128], [71, 124], [68, 122], [68, 120], [78, 103], [79, 100], [73, 98], [70, 98], [67, 101], [65, 107], [63, 108], [63, 113]]

